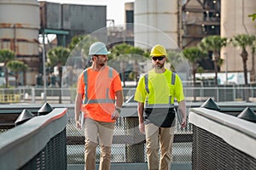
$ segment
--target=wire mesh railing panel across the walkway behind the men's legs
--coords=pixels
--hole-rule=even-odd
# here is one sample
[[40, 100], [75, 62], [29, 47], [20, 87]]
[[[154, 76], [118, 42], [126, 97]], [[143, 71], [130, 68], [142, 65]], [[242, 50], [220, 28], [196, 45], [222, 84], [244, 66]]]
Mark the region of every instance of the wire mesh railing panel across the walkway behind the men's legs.
[[[179, 126], [179, 125], [177, 125]], [[147, 162], [145, 138], [138, 130], [138, 117], [119, 117], [114, 128], [111, 162]], [[172, 162], [191, 163], [192, 127], [176, 128], [172, 148]], [[96, 148], [96, 163], [100, 148]], [[67, 123], [67, 164], [84, 164], [84, 132], [75, 127], [73, 117]]]

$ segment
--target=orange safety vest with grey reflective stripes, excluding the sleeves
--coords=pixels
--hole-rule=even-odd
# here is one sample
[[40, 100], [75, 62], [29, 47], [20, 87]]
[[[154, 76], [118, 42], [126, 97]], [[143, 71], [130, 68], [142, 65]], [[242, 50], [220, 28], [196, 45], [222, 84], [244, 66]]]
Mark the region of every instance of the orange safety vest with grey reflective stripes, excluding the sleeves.
[[[91, 70], [90, 70], [91, 71]], [[113, 79], [118, 76], [113, 68], [106, 66], [96, 75], [88, 74], [84, 70], [84, 116], [101, 121], [114, 122], [111, 115], [114, 111], [115, 95], [113, 91]]]

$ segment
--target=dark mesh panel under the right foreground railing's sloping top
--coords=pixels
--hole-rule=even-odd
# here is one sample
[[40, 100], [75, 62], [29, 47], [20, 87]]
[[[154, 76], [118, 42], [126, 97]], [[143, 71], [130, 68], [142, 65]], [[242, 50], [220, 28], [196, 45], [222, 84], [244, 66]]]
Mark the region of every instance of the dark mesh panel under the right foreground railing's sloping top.
[[254, 170], [256, 159], [224, 139], [193, 125], [192, 168], [197, 170]]

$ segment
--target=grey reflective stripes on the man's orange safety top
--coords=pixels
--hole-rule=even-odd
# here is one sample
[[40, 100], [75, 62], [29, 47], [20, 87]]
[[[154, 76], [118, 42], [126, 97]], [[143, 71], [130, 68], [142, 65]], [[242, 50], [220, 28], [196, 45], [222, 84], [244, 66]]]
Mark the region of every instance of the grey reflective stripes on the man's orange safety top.
[[[108, 67], [108, 77], [112, 78], [113, 77], [113, 69], [111, 67]], [[108, 92], [109, 89], [106, 89], [106, 99], [88, 99], [88, 74], [87, 74], [87, 69], [84, 70], [84, 101], [83, 104], [99, 104], [99, 103], [111, 103], [113, 104], [115, 102], [115, 99], [109, 99], [108, 98]]]

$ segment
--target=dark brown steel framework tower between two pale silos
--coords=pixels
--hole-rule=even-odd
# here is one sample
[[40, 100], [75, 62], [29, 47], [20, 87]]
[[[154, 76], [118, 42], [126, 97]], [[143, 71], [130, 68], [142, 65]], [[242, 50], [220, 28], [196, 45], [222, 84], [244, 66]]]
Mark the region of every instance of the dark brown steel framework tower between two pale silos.
[[220, 0], [187, 0], [181, 5], [183, 48], [203, 37], [220, 35]]

